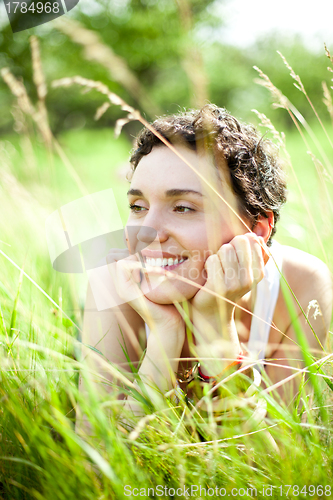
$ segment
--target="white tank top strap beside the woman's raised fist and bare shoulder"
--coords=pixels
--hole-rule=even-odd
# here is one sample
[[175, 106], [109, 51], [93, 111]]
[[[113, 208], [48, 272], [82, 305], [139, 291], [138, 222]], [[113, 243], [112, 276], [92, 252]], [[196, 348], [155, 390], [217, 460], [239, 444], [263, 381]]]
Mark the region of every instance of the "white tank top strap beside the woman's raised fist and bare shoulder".
[[[254, 305], [254, 316], [251, 321], [250, 336], [247, 348], [250, 356], [255, 359], [265, 359], [269, 332], [280, 289], [280, 272], [282, 271], [282, 247], [273, 241], [270, 247], [273, 259], [270, 257], [265, 265], [263, 279], [257, 285], [257, 296]], [[262, 321], [263, 320], [263, 321]], [[150, 330], [145, 324], [148, 339]]]

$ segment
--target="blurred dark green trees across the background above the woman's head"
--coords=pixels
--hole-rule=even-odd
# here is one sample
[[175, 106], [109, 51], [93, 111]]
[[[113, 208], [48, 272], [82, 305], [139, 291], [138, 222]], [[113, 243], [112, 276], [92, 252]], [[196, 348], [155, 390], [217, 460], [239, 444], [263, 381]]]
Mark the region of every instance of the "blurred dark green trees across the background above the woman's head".
[[[311, 119], [305, 96], [293, 86], [288, 69], [276, 54], [280, 50], [300, 75], [319, 113], [329, 118], [321, 91], [322, 80], [329, 82], [331, 76], [326, 70], [324, 50], [321, 55], [310, 53], [300, 40], [284, 41], [278, 35], [258, 41], [251, 48], [225, 46], [216, 41], [222, 21], [215, 15], [215, 1], [82, 1], [62, 18], [79, 22], [81, 28], [67, 24], [66, 29], [61, 19], [59, 24], [54, 21], [14, 35], [9, 26], [3, 27], [0, 67], [9, 66], [16, 76], [23, 78], [33, 97], [28, 39], [36, 34], [49, 83], [74, 75], [100, 80], [149, 119], [158, 113], [200, 105], [206, 99], [227, 107], [240, 118], [254, 119], [252, 108], [271, 114], [269, 93], [253, 82], [257, 76], [253, 65], [256, 65]], [[97, 47], [95, 55], [91, 40]], [[108, 60], [107, 64], [103, 58]], [[7, 87], [0, 81], [2, 131], [12, 127], [11, 102]], [[123, 112], [111, 107], [95, 122], [95, 111], [102, 102], [101, 96], [93, 91], [83, 95], [78, 88], [49, 89], [47, 106], [52, 129], [57, 133], [83, 126], [112, 126]], [[273, 116], [282, 120], [282, 126], [290, 123], [281, 110]]]

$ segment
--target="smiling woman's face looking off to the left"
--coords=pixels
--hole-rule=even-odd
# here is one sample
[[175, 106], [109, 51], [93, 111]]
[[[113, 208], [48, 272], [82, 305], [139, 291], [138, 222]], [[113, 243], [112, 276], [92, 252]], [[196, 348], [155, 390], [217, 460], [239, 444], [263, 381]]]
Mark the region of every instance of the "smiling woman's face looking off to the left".
[[[234, 195], [211, 157], [184, 146], [177, 150], [236, 207]], [[141, 159], [134, 171], [128, 198], [131, 212], [127, 225], [140, 227], [136, 250], [142, 250], [146, 263], [164, 266], [198, 285], [205, 284], [204, 264], [208, 256], [236, 234], [246, 232], [226, 203], [166, 146], [153, 148]], [[151, 241], [152, 231], [147, 228], [156, 231], [154, 241]], [[161, 278], [153, 272], [148, 273], [148, 278], [151, 289], [143, 280], [143, 293], [159, 304], [181, 302], [198, 291], [192, 284]]]

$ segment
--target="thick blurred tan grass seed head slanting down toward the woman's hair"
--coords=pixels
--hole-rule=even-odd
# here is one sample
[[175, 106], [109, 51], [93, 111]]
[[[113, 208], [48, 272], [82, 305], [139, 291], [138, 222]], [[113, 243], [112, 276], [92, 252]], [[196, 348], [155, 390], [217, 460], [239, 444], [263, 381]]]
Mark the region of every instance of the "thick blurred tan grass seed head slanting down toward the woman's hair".
[[83, 47], [85, 59], [96, 61], [107, 68], [111, 78], [129, 92], [148, 116], [161, 114], [136, 75], [128, 67], [127, 62], [115, 54], [111, 47], [105, 45], [96, 32], [84, 28], [78, 21], [67, 17], [55, 20], [54, 26], [65, 33], [73, 42]]

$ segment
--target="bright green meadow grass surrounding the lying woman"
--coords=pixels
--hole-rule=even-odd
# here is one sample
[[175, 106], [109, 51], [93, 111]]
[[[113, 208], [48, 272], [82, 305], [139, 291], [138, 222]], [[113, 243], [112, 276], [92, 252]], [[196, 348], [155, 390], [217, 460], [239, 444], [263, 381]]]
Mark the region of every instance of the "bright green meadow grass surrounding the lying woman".
[[[324, 144], [320, 130], [315, 132]], [[112, 130], [70, 131], [58, 139], [88, 192], [114, 189], [125, 222], [127, 183], [117, 170], [126, 162], [131, 145], [124, 138], [115, 141], [112, 134]], [[1, 190], [0, 249], [55, 302], [61, 299], [64, 311], [81, 328], [84, 282], [53, 271], [44, 221], [62, 204], [82, 196], [82, 191], [63, 162], [56, 156], [50, 159], [37, 141], [29, 166], [17, 136], [4, 138], [3, 144], [8, 154], [2, 170], [6, 184]], [[288, 135], [287, 146], [330, 255], [332, 213], [322, 183], [296, 133]], [[289, 185], [290, 201], [277, 238], [323, 258], [292, 177]], [[329, 182], [326, 187], [332, 193]], [[89, 385], [91, 377], [75, 340], [77, 328], [3, 255], [0, 260], [0, 498], [129, 498], [125, 485], [146, 491], [157, 485], [218, 486], [227, 493], [232, 488], [256, 488], [259, 497], [264, 487], [272, 486], [271, 498], [281, 498], [280, 485], [329, 485], [333, 399], [319, 376], [316, 390], [327, 406], [325, 422], [311, 406], [309, 384], [301, 386], [299, 411], [286, 408], [278, 397], [265, 396], [266, 424], [280, 453], [263, 430], [245, 430], [250, 409], [218, 428], [203, 426], [199, 416], [190, 417], [185, 404], [175, 409], [166, 400], [136, 435], [130, 434], [119, 424], [116, 395], [96, 393]], [[327, 371], [330, 366], [322, 368]], [[79, 369], [90, 387], [84, 397], [77, 388]], [[90, 422], [90, 435], [74, 431], [77, 403]], [[306, 425], [302, 414], [307, 416]], [[198, 429], [212, 442], [202, 442]]]

